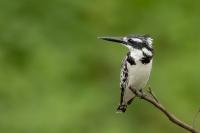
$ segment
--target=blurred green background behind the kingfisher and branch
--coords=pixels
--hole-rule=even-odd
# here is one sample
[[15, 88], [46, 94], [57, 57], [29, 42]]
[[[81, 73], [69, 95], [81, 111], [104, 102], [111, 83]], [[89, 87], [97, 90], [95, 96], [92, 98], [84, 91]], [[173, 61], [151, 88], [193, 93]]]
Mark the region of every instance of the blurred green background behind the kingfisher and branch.
[[115, 113], [127, 49], [97, 37], [150, 34], [149, 85], [169, 111], [192, 123], [200, 106], [199, 5], [0, 0], [0, 132], [186, 133], [139, 99], [126, 114]]

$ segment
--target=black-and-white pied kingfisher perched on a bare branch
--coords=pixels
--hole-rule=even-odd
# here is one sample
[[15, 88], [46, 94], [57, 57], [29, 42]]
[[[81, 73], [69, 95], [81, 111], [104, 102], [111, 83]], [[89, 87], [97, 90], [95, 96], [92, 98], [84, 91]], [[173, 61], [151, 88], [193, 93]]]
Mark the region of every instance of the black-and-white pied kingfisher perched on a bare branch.
[[128, 35], [124, 37], [98, 37], [115, 42], [128, 48], [128, 53], [121, 64], [120, 71], [120, 102], [117, 113], [124, 113], [132, 103], [136, 94], [142, 91], [150, 77], [153, 62], [153, 39], [150, 35]]

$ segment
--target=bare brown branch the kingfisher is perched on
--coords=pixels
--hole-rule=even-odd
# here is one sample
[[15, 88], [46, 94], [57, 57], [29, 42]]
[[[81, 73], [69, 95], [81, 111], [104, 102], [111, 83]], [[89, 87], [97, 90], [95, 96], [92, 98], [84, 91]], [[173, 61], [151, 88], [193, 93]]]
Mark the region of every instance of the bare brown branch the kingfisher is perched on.
[[197, 131], [196, 129], [194, 129], [191, 125], [186, 124], [185, 122], [181, 121], [180, 119], [178, 119], [176, 116], [174, 116], [172, 113], [168, 112], [165, 107], [160, 104], [158, 102], [158, 99], [156, 98], [156, 96], [154, 95], [154, 93], [152, 92], [152, 90], [150, 89], [148, 91], [148, 94], [145, 94], [143, 91], [137, 91], [133, 88], [130, 88], [130, 90], [139, 98], [153, 104], [157, 109], [159, 109], [162, 113], [164, 113], [164, 115], [174, 124], [176, 124], [177, 126], [184, 128], [185, 130], [191, 132], [191, 133], [200, 133], [199, 131]]

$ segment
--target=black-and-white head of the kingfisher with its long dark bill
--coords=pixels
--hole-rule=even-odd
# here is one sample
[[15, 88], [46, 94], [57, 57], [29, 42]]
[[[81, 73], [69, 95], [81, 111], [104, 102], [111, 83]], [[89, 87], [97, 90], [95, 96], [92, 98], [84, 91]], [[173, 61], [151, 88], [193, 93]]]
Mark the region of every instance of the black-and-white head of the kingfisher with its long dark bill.
[[126, 46], [130, 51], [134, 49], [142, 50], [146, 48], [153, 52], [153, 39], [149, 35], [130, 35], [125, 37], [99, 37], [106, 41], [121, 43]]

